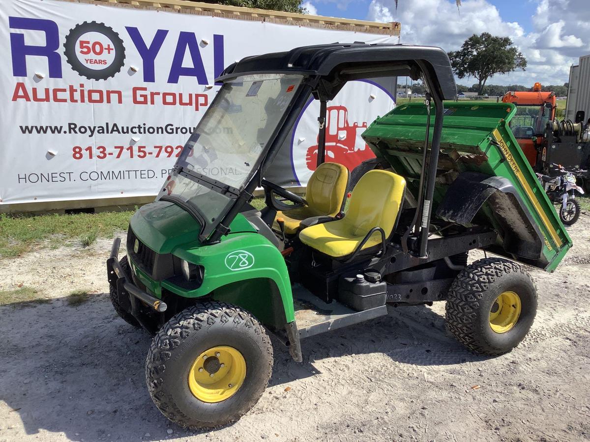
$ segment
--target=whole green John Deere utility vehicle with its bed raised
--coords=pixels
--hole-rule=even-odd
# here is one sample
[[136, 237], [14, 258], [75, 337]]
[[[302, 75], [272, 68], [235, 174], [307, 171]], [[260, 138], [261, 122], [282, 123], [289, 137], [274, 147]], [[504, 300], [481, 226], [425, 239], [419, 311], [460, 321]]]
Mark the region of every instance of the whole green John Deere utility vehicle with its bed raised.
[[[405, 75], [424, 81], [425, 103], [368, 127], [376, 159], [355, 171], [344, 211], [349, 171], [324, 161], [327, 102], [347, 81]], [[270, 378], [268, 332], [303, 361], [305, 338], [388, 306], [446, 301], [448, 330], [479, 354], [522, 341], [537, 294], [515, 261], [553, 271], [572, 242], [510, 132], [514, 105], [445, 108], [447, 55], [412, 45], [302, 47], [244, 58], [217, 81], [156, 201], [132, 217], [126, 256], [116, 239], [107, 260], [117, 313], [155, 334], [146, 379], [166, 417], [235, 421]], [[318, 164], [301, 197], [264, 176], [310, 95]], [[471, 249], [508, 259], [467, 265]]]

